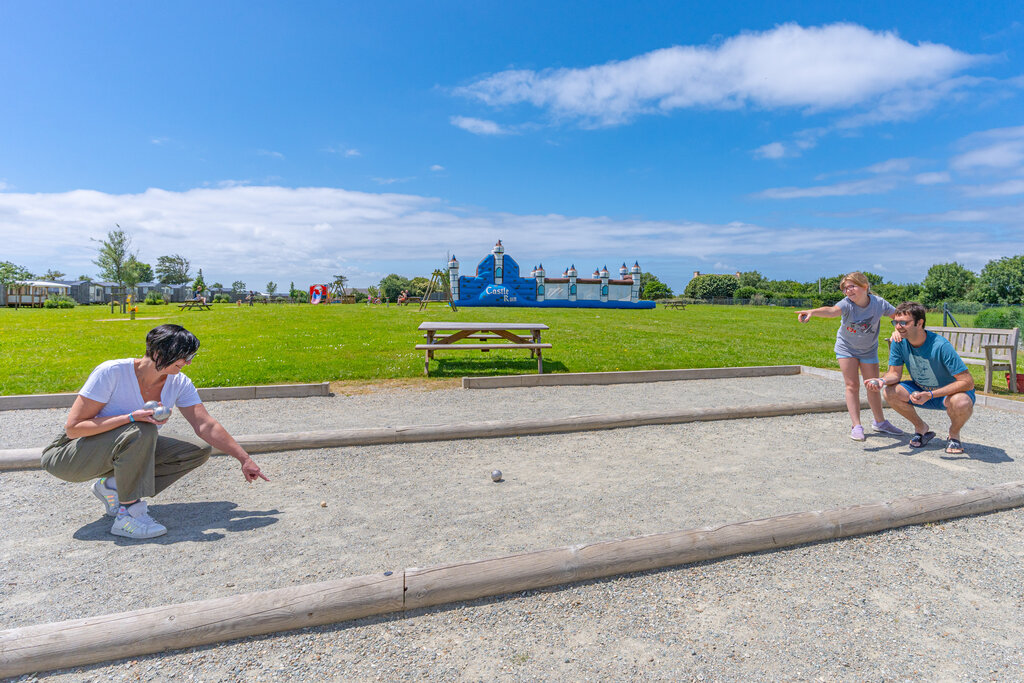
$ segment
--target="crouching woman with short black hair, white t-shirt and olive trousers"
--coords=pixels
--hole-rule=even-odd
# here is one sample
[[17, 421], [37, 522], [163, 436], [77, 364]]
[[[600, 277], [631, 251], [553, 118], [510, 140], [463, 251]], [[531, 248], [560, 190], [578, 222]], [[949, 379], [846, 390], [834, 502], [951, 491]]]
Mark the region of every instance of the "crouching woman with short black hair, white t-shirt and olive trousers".
[[[111, 533], [153, 539], [167, 527], [150, 516], [143, 498], [156, 496], [210, 458], [211, 444], [242, 464], [246, 481], [269, 481], [249, 454], [207, 412], [181, 370], [199, 339], [180, 325], [161, 325], [145, 336], [145, 355], [99, 364], [71, 408], [63, 432], [43, 451], [42, 467], [65, 481], [88, 481], [114, 517]], [[156, 400], [177, 407], [205, 444], [160, 436]]]

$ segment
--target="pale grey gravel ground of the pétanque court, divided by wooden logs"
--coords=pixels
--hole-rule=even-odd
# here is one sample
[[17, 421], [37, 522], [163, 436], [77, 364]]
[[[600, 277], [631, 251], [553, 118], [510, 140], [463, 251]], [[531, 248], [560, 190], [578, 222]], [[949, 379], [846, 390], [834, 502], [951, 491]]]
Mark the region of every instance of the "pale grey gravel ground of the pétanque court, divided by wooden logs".
[[[841, 398], [801, 375], [209, 408], [255, 434]], [[0, 447], [65, 417], [0, 412]], [[1024, 480], [1024, 415], [977, 409], [966, 457], [928, 417], [922, 451], [836, 413], [263, 454], [269, 483], [215, 457], [152, 499], [151, 542], [111, 536], [88, 484], [2, 472], [0, 628]], [[41, 677], [1024, 680], [1022, 532], [1016, 509]]]

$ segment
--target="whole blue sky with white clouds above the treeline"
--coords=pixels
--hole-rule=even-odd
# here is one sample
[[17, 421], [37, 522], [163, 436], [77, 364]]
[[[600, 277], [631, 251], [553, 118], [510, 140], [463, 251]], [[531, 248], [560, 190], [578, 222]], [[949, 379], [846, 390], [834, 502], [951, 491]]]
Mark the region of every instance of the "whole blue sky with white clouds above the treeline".
[[0, 261], [921, 282], [1024, 253], [1024, 4], [0, 0]]

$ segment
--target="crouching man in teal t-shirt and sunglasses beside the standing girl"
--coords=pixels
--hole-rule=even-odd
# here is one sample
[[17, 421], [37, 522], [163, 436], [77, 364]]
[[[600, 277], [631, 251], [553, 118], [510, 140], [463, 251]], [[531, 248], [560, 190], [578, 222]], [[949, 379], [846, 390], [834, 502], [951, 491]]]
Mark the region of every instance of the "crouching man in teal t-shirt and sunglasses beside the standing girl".
[[[964, 453], [961, 429], [974, 414], [974, 378], [949, 340], [925, 329], [925, 307], [920, 303], [907, 301], [897, 306], [893, 325], [898, 334], [889, 345], [889, 370], [885, 377], [864, 381], [867, 395], [882, 390], [886, 402], [910, 421], [913, 449], [935, 437], [914, 405], [945, 411], [949, 416], [946, 453]], [[910, 372], [909, 381], [902, 381], [904, 367]]]

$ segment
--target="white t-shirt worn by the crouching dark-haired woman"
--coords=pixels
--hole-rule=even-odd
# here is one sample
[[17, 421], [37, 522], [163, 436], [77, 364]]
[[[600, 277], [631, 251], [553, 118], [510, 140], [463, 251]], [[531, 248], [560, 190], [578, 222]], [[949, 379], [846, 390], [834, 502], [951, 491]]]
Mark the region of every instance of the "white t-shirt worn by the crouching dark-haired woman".
[[[145, 404], [142, 390], [135, 376], [133, 358], [105, 360], [92, 371], [89, 379], [79, 395], [85, 396], [104, 405], [96, 414], [98, 418], [112, 415], [127, 415], [140, 410]], [[203, 400], [196, 391], [196, 385], [183, 374], [168, 375], [164, 388], [160, 391], [160, 402], [168, 408], [175, 405], [188, 408], [198, 405]]]

